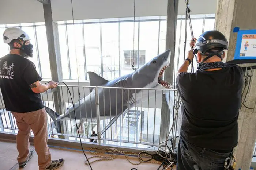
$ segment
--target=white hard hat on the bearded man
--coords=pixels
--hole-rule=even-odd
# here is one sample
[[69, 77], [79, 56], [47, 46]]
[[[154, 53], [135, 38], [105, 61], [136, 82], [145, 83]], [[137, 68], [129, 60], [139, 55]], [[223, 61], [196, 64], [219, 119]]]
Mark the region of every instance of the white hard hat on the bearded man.
[[7, 28], [3, 34], [4, 43], [8, 44], [13, 39], [22, 41], [30, 40], [29, 35], [20, 28]]

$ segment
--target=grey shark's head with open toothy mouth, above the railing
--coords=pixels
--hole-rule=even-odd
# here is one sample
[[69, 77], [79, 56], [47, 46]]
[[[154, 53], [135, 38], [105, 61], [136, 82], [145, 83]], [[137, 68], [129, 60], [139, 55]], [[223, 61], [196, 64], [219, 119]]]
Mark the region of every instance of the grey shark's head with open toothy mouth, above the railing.
[[[152, 58], [133, 73], [132, 79], [143, 84], [143, 88], [170, 89], [172, 85], [163, 80], [163, 73], [169, 67], [170, 50]], [[140, 87], [142, 88], [142, 87]]]

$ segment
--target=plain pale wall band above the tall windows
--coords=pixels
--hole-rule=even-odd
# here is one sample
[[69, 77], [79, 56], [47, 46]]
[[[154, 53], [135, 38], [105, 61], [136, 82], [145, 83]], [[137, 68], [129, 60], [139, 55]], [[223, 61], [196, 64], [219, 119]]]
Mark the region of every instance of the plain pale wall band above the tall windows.
[[[190, 0], [191, 14], [216, 12], [217, 0]], [[133, 16], [133, 0], [73, 0], [74, 19]], [[136, 0], [136, 16], [167, 15], [167, 0]], [[185, 0], [178, 14], [184, 15]], [[52, 0], [54, 21], [72, 20], [71, 0]], [[36, 0], [0, 0], [0, 24], [44, 22], [43, 5]]]

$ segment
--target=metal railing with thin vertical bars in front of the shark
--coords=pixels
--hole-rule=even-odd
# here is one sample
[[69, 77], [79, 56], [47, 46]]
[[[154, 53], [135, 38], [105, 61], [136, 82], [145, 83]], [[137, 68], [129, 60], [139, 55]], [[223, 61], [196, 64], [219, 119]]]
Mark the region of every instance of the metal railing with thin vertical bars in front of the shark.
[[[41, 95], [48, 112], [50, 137], [79, 140], [75, 126], [77, 123], [83, 142], [140, 148], [159, 146], [163, 142], [160, 134], [167, 134], [170, 130], [162, 128], [162, 96], [166, 95], [172, 115], [170, 125], [165, 127], [172, 127], [174, 114], [179, 111], [176, 102], [179, 98], [173, 89], [94, 86], [69, 86], [69, 89], [76, 103], [75, 108], [78, 107], [75, 109], [77, 121], [74, 119], [71, 97], [66, 86], [59, 85], [56, 90], [50, 89]], [[15, 117], [5, 111], [2, 98], [1, 103], [0, 131], [17, 133]], [[173, 129], [176, 132], [170, 135], [179, 135], [177, 123]], [[93, 135], [93, 131], [97, 136]]]

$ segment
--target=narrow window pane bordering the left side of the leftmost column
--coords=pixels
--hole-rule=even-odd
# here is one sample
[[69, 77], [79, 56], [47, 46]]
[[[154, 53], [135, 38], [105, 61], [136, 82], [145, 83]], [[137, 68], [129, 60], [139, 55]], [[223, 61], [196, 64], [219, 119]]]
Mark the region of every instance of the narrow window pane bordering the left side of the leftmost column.
[[37, 26], [35, 27], [35, 29], [37, 31], [37, 43], [38, 43], [42, 78], [52, 79], [45, 26]]

